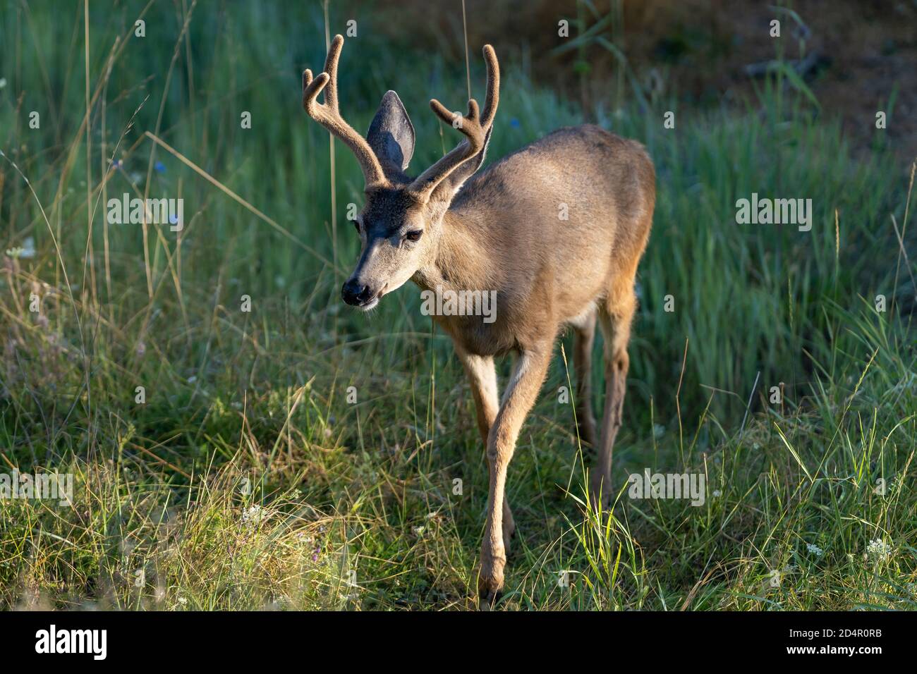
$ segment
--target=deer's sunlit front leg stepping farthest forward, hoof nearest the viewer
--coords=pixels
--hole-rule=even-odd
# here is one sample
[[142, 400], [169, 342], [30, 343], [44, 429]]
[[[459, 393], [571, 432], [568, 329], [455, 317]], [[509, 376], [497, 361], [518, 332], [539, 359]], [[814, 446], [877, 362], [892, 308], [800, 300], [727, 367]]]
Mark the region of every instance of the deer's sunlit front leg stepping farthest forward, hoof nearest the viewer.
[[551, 344], [523, 351], [516, 360], [503, 403], [487, 437], [487, 462], [491, 472], [487, 522], [481, 543], [478, 594], [481, 601], [496, 602], [503, 590], [506, 547], [503, 542], [503, 507], [506, 503], [506, 469], [513, 459], [516, 438], [532, 408], [547, 373]]

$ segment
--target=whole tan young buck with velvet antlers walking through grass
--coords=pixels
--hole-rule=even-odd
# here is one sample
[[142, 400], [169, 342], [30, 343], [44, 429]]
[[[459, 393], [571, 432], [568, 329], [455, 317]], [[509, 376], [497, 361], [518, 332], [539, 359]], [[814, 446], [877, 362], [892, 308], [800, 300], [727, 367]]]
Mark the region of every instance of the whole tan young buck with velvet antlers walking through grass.
[[[435, 292], [496, 291], [496, 320], [434, 316], [452, 337], [468, 374], [487, 447], [490, 493], [478, 591], [483, 601], [494, 602], [503, 588], [514, 532], [506, 469], [564, 326], [571, 326], [575, 336], [580, 437], [597, 450], [591, 498], [597, 505], [607, 503], [624, 403], [635, 274], [656, 201], [653, 163], [635, 141], [585, 125], [559, 129], [473, 175], [484, 160], [499, 99], [497, 57], [488, 45], [483, 110], [472, 99], [468, 114], [459, 116], [430, 101], [436, 116], [465, 138], [410, 178], [404, 171], [414, 153], [414, 126], [398, 94], [382, 96], [367, 138], [340, 114], [337, 61], [343, 44], [336, 36], [325, 72], [315, 79], [304, 72], [303, 106], [353, 151], [366, 180], [366, 204], [355, 221], [362, 249], [342, 288], [344, 301], [370, 310], [408, 280]], [[324, 104], [315, 100], [321, 92]], [[598, 442], [590, 387], [597, 320], [606, 378]], [[500, 399], [493, 358], [510, 351], [517, 359]]]

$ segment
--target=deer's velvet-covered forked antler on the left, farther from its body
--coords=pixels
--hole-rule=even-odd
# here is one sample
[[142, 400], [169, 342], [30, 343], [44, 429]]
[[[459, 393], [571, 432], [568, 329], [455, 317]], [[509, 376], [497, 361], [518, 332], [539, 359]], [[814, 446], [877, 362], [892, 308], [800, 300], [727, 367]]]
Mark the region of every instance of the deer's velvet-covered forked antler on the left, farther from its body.
[[[306, 69], [303, 73], [303, 108], [308, 116], [344, 141], [357, 156], [359, 166], [363, 170], [363, 179], [369, 187], [371, 184], [386, 182], [385, 174], [370, 144], [344, 121], [337, 108], [337, 60], [343, 47], [343, 36], [336, 35], [328, 50], [325, 72], [319, 74], [315, 80], [312, 79], [312, 71]], [[320, 104], [315, 99], [323, 90], [325, 103]]]

